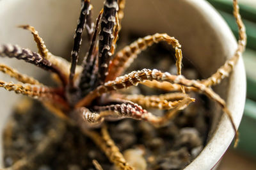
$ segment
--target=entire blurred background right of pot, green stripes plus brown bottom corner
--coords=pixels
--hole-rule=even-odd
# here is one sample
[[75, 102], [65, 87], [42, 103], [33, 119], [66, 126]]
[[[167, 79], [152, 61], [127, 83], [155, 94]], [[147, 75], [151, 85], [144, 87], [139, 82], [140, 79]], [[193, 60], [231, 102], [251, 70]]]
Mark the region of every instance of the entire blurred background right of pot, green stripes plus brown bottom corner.
[[[207, 0], [220, 12], [237, 38], [237, 26], [232, 15], [232, 1]], [[256, 0], [239, 0], [240, 13], [248, 36], [243, 54], [247, 79], [247, 98], [239, 127], [240, 141], [236, 149], [230, 145], [218, 169], [256, 169]], [[245, 168], [246, 167], [246, 168]]]

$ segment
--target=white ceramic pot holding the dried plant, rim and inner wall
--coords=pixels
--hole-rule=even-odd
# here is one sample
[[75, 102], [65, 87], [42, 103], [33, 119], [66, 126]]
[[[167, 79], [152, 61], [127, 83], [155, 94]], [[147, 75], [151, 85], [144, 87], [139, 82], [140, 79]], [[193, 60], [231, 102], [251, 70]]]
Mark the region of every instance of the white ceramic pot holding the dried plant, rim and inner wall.
[[[96, 14], [102, 8], [103, 0], [92, 2], [96, 3]], [[0, 43], [17, 43], [37, 51], [30, 33], [15, 27], [30, 24], [36, 27], [53, 54], [68, 56], [80, 5], [79, 0], [0, 0]], [[122, 30], [134, 30], [142, 35], [168, 33], [175, 36], [182, 44], [184, 54], [204, 77], [215, 72], [234, 54], [237, 47], [234, 35], [225, 21], [204, 0], [129, 0]], [[0, 58], [0, 62], [15, 66], [20, 72], [34, 77], [44, 73], [36, 72], [35, 66], [28, 66], [15, 59]], [[8, 80], [8, 77], [1, 74], [0, 79]], [[240, 59], [228, 81], [215, 89], [227, 100], [237, 127], [243, 115], [245, 90], [244, 65], [243, 59]], [[17, 101], [19, 95], [0, 89], [0, 129], [3, 129]], [[220, 116], [221, 111], [218, 109], [214, 110], [213, 115], [216, 123], [212, 123], [207, 146], [186, 169], [211, 169], [230, 145], [234, 137], [230, 121], [226, 115]], [[0, 160], [2, 163], [1, 157]]]

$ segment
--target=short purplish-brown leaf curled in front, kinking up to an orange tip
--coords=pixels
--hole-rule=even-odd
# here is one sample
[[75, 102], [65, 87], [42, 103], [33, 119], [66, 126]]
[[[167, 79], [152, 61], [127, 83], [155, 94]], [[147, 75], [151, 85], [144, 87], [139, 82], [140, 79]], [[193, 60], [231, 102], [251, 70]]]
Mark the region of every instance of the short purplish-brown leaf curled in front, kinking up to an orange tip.
[[[182, 93], [184, 94], [184, 93]], [[163, 96], [163, 98], [168, 97]], [[82, 129], [87, 129], [88, 127], [99, 127], [99, 125], [106, 120], [120, 120], [123, 118], [132, 118], [135, 120], [144, 120], [152, 123], [153, 125], [159, 127], [165, 125], [170, 119], [172, 119], [178, 111], [185, 109], [191, 102], [195, 99], [185, 96], [179, 104], [175, 105], [171, 111], [168, 111], [164, 116], [157, 117], [154, 114], [147, 112], [140, 105], [134, 104], [129, 100], [109, 100], [109, 102], [114, 102], [116, 104], [97, 106], [95, 105], [93, 109], [97, 112], [90, 112], [88, 109], [81, 107], [77, 111], [72, 113], [72, 119], [74, 119], [79, 127]], [[115, 102], [116, 101], [116, 102]]]

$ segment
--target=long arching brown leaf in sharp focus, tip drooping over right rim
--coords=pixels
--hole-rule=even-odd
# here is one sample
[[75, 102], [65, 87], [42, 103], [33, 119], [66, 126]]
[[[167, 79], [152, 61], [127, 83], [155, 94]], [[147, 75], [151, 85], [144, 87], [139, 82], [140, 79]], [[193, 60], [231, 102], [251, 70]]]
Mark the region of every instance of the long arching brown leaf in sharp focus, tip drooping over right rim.
[[109, 91], [114, 91], [117, 89], [129, 88], [131, 86], [137, 86], [140, 82], [143, 81], [159, 81], [159, 82], [170, 82], [180, 84], [182, 86], [193, 87], [198, 89], [200, 92], [205, 93], [209, 98], [216, 101], [222, 107], [223, 111], [230, 118], [230, 122], [232, 123], [232, 127], [236, 132], [236, 141], [238, 141], [238, 132], [236, 129], [236, 125], [232, 119], [230, 112], [227, 112], [227, 106], [225, 101], [220, 98], [218, 94], [212, 91], [211, 88], [207, 88], [204, 84], [201, 84], [195, 80], [188, 80], [182, 75], [171, 75], [168, 72], [162, 73], [159, 70], [149, 70], [143, 69], [138, 72], [131, 72], [127, 75], [117, 77], [115, 81], [108, 81], [104, 85], [99, 86], [95, 91], [92, 91], [87, 95], [87, 97], [83, 98], [80, 102], [77, 103], [76, 107], [81, 107], [83, 105], [88, 105], [92, 102], [93, 98], [99, 97], [104, 93], [108, 93]]

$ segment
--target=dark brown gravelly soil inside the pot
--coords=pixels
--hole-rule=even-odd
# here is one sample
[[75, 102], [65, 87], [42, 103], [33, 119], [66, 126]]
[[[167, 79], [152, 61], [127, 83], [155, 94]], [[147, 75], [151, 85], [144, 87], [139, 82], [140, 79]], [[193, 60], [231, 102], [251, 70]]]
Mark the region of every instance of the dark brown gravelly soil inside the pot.
[[[129, 44], [141, 37], [127, 35], [126, 38], [120, 36], [123, 39], [121, 43]], [[182, 73], [188, 79], [200, 79], [200, 73], [188, 61], [186, 54], [184, 56]], [[142, 68], [175, 73], [175, 56], [170, 45], [153, 45], [140, 54], [127, 71]], [[126, 91], [143, 95], [164, 93], [145, 86]], [[131, 119], [108, 121], [109, 134], [124, 157], [130, 162], [140, 162], [141, 169], [146, 166], [147, 169], [183, 169], [204, 148], [211, 124], [208, 98], [198, 94], [191, 94], [191, 97], [196, 98], [196, 102], [165, 127], [155, 128], [145, 121]], [[159, 110], [151, 112], [164, 114]], [[3, 139], [6, 167], [15, 164], [20, 169], [95, 169], [92, 161], [97, 160], [103, 169], [116, 169], [78, 127], [66, 124], [34, 100], [26, 99], [22, 108], [15, 109], [6, 124]]]

